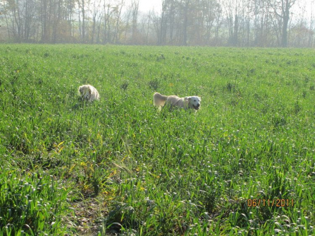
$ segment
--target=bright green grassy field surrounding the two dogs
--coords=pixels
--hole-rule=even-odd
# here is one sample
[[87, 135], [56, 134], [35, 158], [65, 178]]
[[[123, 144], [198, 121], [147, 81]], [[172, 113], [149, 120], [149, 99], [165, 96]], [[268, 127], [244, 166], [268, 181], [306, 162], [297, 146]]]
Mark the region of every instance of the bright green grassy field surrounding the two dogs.
[[314, 101], [313, 49], [0, 45], [0, 235], [314, 235]]

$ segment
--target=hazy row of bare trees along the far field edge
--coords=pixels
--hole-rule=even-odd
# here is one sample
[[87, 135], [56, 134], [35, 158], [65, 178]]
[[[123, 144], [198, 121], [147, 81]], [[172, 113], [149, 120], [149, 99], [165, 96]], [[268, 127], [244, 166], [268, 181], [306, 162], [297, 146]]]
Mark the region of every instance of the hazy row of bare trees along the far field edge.
[[315, 46], [315, 0], [310, 5], [303, 0], [163, 0], [161, 5], [159, 11], [140, 12], [139, 0], [1, 0], [0, 40]]

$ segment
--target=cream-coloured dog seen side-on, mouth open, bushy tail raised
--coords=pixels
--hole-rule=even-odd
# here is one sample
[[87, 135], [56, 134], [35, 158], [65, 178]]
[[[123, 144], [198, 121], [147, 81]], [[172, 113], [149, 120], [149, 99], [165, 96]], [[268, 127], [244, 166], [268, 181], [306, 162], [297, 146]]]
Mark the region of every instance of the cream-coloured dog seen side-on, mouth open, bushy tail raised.
[[185, 110], [191, 108], [199, 110], [201, 98], [198, 96], [178, 97], [175, 95], [164, 96], [158, 92], [153, 94], [153, 103], [156, 107], [180, 107]]

